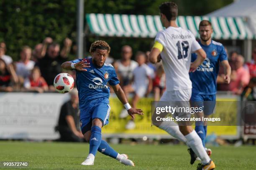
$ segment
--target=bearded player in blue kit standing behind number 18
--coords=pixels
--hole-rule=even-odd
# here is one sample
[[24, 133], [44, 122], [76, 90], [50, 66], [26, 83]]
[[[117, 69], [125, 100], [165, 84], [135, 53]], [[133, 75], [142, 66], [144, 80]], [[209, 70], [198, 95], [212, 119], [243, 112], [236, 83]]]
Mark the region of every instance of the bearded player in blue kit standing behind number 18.
[[[231, 74], [227, 53], [221, 43], [211, 39], [212, 32], [212, 24], [210, 21], [202, 20], [199, 24], [199, 44], [202, 49], [205, 50], [207, 58], [197, 67], [195, 72], [189, 74], [190, 80], [192, 81], [191, 103], [192, 105], [200, 107], [204, 106], [204, 117], [209, 117], [215, 107], [217, 90], [216, 79], [219, 72], [219, 62], [224, 67], [226, 83], [230, 82]], [[196, 58], [197, 54], [193, 53], [191, 62], [194, 62]], [[196, 122], [195, 130], [205, 146], [207, 122]], [[206, 148], [206, 151], [210, 156], [211, 150]]]

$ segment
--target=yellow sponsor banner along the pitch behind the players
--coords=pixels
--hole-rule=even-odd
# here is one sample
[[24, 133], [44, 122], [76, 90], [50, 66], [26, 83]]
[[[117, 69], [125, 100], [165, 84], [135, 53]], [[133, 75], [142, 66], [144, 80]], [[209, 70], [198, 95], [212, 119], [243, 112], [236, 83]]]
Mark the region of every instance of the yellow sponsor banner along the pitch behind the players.
[[[217, 97], [218, 98], [218, 97]], [[120, 112], [124, 109], [122, 103], [118, 100], [116, 97], [110, 97], [110, 122], [108, 125], [106, 125], [102, 132], [107, 134], [108, 136], [110, 134], [112, 135], [118, 135], [118, 134], [127, 134], [129, 137], [130, 134], [134, 135], [148, 135], [150, 137], [156, 136], [162, 136], [165, 138], [172, 138], [170, 135], [168, 135], [164, 130], [161, 130], [157, 128], [156, 126], [151, 124], [151, 101], [153, 101], [153, 98], [141, 98], [138, 101], [137, 108], [140, 108], [143, 110], [144, 115], [136, 115], [135, 117], [135, 128], [132, 130], [127, 130], [125, 128], [125, 125], [128, 121], [131, 120], [130, 116], [127, 116], [125, 118], [120, 118]], [[227, 107], [225, 102], [218, 102], [218, 109], [215, 110], [215, 113], [212, 115], [213, 117], [219, 117], [221, 116], [225, 122], [229, 122], [230, 120], [237, 121], [238, 120], [238, 107], [236, 105], [237, 99], [236, 97], [232, 98], [220, 98], [217, 100], [221, 101], [229, 101], [230, 105]], [[130, 102], [131, 103], [131, 102]], [[230, 108], [230, 112], [227, 112], [227, 108]], [[232, 108], [232, 109], [231, 109]], [[207, 129], [207, 134], [215, 133], [218, 136], [222, 136], [223, 138], [238, 138], [239, 137], [239, 128], [237, 126], [232, 126], [227, 124], [228, 126], [209, 126]]]

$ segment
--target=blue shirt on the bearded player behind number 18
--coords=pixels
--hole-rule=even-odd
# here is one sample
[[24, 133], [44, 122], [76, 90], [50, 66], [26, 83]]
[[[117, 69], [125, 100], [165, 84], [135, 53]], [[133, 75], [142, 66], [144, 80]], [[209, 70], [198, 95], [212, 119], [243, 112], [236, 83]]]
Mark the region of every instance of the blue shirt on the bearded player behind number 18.
[[[210, 45], [202, 45], [200, 41], [199, 44], [205, 50], [207, 58], [197, 67], [195, 72], [189, 73], [192, 81], [192, 93], [213, 95], [216, 94], [217, 90], [216, 79], [219, 72], [219, 62], [228, 60], [227, 53], [221, 43], [213, 40]], [[193, 53], [191, 62], [194, 62], [196, 58], [197, 54]]]

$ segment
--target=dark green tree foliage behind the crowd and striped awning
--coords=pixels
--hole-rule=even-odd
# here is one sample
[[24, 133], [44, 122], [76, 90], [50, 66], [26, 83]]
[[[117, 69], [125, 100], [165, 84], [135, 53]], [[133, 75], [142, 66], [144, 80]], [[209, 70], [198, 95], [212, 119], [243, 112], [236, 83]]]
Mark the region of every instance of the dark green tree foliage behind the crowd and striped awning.
[[[166, 0], [84, 0], [84, 13], [118, 13], [159, 15], [158, 6]], [[205, 15], [233, 0], [174, 0], [179, 15]], [[23, 45], [34, 47], [45, 37], [61, 43], [65, 37], [76, 40], [76, 0], [1, 0], [0, 41], [5, 41], [7, 54], [18, 60]], [[86, 36], [86, 49], [96, 37]], [[150, 50], [152, 39], [100, 37], [112, 47], [111, 55], [119, 57], [121, 45], [133, 51]], [[118, 43], [116, 43], [118, 42]]]

